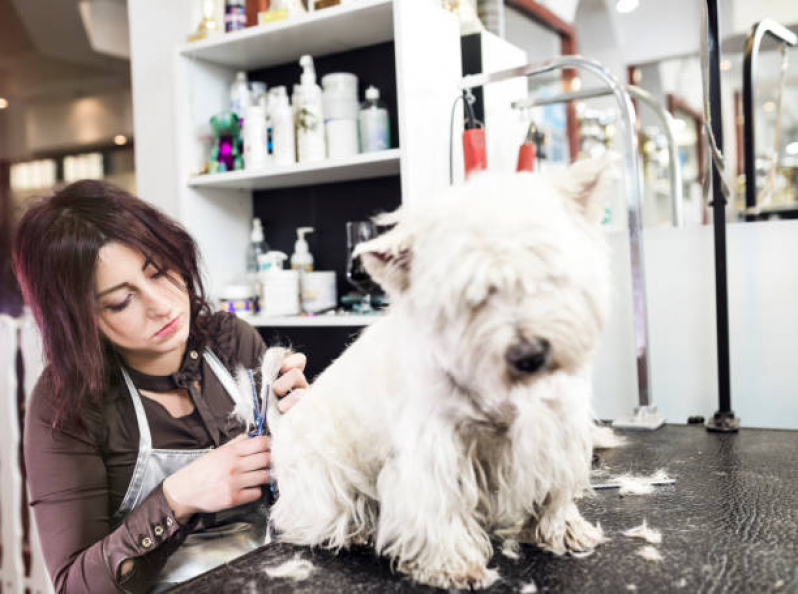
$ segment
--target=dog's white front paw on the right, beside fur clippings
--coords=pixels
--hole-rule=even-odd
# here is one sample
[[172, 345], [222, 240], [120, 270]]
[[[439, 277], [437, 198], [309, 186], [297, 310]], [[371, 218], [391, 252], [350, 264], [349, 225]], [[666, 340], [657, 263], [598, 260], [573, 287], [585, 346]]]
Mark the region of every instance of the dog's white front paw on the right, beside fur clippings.
[[536, 525], [530, 524], [526, 532], [525, 540], [533, 536], [533, 542], [555, 555], [589, 551], [605, 540], [601, 526], [585, 520], [569, 496], [551, 498], [544, 505]]

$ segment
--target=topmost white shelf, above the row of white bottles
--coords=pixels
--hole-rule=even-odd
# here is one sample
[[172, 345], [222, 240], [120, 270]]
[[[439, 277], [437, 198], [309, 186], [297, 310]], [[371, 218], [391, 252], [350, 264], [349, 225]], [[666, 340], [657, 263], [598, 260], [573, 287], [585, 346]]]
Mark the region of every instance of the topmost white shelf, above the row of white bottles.
[[195, 41], [181, 47], [180, 53], [236, 70], [254, 70], [296, 62], [303, 54], [315, 58], [391, 39], [393, 0], [357, 0]]

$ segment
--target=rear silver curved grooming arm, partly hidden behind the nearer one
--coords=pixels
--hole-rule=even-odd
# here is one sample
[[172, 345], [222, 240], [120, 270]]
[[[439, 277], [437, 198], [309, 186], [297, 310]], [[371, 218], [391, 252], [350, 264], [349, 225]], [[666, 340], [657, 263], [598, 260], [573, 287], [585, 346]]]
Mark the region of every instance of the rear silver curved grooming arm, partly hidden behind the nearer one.
[[[674, 227], [681, 227], [684, 224], [684, 217], [682, 215], [684, 193], [682, 187], [682, 168], [681, 165], [679, 165], [679, 147], [676, 144], [676, 135], [673, 131], [673, 116], [671, 116], [648, 91], [634, 85], [627, 86], [626, 90], [632, 97], [639, 99], [652, 109], [660, 119], [663, 130], [665, 130], [665, 137], [668, 140], [668, 177], [671, 185], [671, 219]], [[584, 91], [562, 93], [552, 97], [515, 101], [513, 103], [513, 108], [537, 107], [540, 105], [551, 105], [553, 103], [582, 101], [585, 99], [594, 99], [596, 97], [606, 97], [607, 95], [612, 95], [612, 90], [599, 87], [596, 89], [586, 89]]]

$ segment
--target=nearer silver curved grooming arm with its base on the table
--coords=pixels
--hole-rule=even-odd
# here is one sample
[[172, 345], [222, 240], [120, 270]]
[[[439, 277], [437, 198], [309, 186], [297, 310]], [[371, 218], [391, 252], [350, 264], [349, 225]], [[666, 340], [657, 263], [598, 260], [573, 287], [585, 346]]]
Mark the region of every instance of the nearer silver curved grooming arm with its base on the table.
[[643, 196], [643, 177], [637, 153], [634, 106], [629, 92], [610, 72], [594, 60], [580, 56], [561, 56], [517, 68], [488, 74], [472, 74], [463, 78], [461, 88], [469, 91], [490, 83], [501, 82], [518, 76], [537, 76], [553, 70], [576, 68], [587, 70], [598, 76], [609, 87], [618, 103], [620, 122], [624, 138], [624, 182], [629, 213], [629, 248], [632, 261], [632, 301], [635, 330], [635, 358], [637, 361], [637, 384], [639, 406], [628, 419], [616, 419], [618, 427], [634, 429], [657, 429], [665, 418], [657, 413], [650, 399], [651, 362], [648, 357], [648, 319], [646, 311], [646, 283], [643, 259], [643, 238], [640, 205]]

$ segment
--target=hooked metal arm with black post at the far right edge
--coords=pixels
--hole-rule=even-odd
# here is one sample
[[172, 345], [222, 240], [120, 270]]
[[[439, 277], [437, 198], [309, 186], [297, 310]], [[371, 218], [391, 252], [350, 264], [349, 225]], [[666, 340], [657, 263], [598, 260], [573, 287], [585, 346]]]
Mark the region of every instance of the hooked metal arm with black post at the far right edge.
[[[770, 35], [777, 41], [789, 47], [798, 45], [798, 35], [787, 27], [772, 19], [764, 19], [751, 27], [745, 41], [745, 58], [743, 59], [743, 138], [745, 145], [745, 208], [756, 208], [756, 128], [754, 122], [755, 105], [754, 83], [756, 77], [756, 63], [759, 58], [759, 48], [765, 35]], [[746, 215], [746, 220], [753, 220], [752, 215]]]

